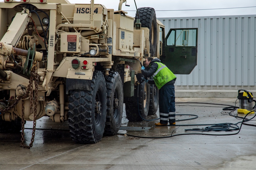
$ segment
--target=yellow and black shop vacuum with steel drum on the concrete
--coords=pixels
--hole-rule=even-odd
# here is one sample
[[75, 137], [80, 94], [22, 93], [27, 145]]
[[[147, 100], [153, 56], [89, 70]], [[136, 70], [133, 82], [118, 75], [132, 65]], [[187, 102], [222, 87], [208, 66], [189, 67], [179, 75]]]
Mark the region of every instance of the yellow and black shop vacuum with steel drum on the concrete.
[[253, 110], [253, 96], [252, 93], [247, 91], [247, 90], [238, 90], [238, 96], [237, 98], [239, 99], [239, 109], [237, 109], [237, 113], [240, 114], [247, 114]]

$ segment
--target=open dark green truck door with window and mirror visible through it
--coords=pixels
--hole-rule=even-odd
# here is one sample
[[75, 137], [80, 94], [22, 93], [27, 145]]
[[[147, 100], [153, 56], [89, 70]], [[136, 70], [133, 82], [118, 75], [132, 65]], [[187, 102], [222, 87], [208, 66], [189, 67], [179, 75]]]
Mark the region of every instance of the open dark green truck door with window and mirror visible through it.
[[190, 74], [197, 65], [197, 28], [170, 29], [161, 61], [174, 74]]

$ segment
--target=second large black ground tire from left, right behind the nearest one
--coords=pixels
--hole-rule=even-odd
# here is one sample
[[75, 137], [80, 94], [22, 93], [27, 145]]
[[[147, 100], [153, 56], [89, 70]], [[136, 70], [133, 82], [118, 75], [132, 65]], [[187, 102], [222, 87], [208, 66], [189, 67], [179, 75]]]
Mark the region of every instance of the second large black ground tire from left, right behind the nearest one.
[[105, 77], [107, 89], [107, 114], [105, 135], [115, 135], [120, 129], [123, 115], [123, 84], [118, 72]]

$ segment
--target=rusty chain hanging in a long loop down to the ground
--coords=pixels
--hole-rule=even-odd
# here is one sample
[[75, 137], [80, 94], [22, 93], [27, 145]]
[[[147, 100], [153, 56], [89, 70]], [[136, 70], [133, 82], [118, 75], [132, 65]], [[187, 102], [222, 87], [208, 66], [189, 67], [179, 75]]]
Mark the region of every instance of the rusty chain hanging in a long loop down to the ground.
[[[30, 149], [33, 146], [33, 142], [35, 140], [35, 134], [36, 134], [36, 119], [37, 119], [37, 93], [38, 93], [38, 74], [37, 74], [37, 64], [35, 64], [35, 67], [32, 68], [30, 74], [30, 80], [28, 85], [28, 92], [30, 92], [30, 113], [34, 113], [34, 120], [33, 120], [33, 129], [32, 129], [32, 137], [29, 146], [24, 145], [24, 125], [25, 125], [25, 113], [24, 113], [24, 100], [22, 100], [22, 132], [21, 132], [21, 142], [20, 146], [23, 148]], [[35, 95], [33, 97], [33, 80], [35, 84]], [[28, 93], [27, 93], [28, 95]], [[33, 100], [35, 101], [34, 108], [33, 108]]]

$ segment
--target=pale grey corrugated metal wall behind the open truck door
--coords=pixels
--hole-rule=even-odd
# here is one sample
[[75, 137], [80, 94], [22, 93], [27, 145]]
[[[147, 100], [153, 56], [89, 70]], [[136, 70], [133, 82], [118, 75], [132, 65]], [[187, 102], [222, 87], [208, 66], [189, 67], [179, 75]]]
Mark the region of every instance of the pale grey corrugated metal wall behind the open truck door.
[[176, 75], [176, 89], [256, 89], [256, 15], [158, 18], [170, 28], [198, 28], [197, 66]]

